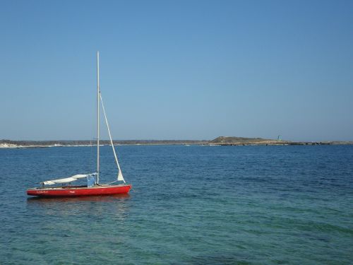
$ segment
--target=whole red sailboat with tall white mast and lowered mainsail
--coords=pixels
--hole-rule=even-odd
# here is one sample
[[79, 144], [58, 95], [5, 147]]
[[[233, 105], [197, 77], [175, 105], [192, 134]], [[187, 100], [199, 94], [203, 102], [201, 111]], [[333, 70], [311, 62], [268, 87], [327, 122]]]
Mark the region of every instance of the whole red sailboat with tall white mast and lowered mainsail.
[[[116, 167], [118, 170], [116, 180], [108, 184], [100, 184], [100, 105], [104, 113], [105, 123], [107, 124], [110, 144], [113, 148]], [[71, 185], [78, 179], [86, 179], [85, 185]], [[118, 182], [117, 184], [113, 184]], [[40, 182], [41, 187], [27, 189], [27, 194], [30, 196], [100, 196], [113, 194], [127, 194], [131, 189], [131, 184], [126, 184], [118, 158], [116, 156], [112, 134], [110, 133], [107, 114], [105, 113], [102, 94], [100, 93], [100, 53], [97, 52], [97, 172], [90, 174], [78, 174], [62, 179], [52, 179]], [[54, 186], [61, 184], [61, 186]]]

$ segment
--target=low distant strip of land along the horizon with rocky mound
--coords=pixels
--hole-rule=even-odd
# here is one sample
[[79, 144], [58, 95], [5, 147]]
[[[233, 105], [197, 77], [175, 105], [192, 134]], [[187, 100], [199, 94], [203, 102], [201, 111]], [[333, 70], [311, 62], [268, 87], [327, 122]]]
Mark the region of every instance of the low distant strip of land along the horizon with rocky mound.
[[[114, 145], [198, 145], [198, 146], [313, 146], [353, 144], [353, 141], [285, 141], [263, 138], [220, 136], [213, 140], [114, 140]], [[102, 146], [110, 144], [101, 140]], [[95, 141], [12, 141], [0, 140], [0, 148], [45, 148], [57, 146], [94, 146]]]

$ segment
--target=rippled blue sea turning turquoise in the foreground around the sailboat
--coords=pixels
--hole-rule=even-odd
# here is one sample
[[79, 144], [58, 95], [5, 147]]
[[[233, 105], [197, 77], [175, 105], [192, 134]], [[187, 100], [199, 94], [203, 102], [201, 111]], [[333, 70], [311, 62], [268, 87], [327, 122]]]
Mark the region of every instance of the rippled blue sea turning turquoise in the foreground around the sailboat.
[[119, 146], [128, 196], [28, 199], [94, 152], [0, 149], [0, 264], [353, 264], [353, 146]]

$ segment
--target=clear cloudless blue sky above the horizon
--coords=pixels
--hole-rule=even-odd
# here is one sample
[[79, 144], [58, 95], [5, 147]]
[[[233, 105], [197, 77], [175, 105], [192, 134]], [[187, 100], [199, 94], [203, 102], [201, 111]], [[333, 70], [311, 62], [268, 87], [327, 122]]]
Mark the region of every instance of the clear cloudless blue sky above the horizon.
[[[0, 1], [0, 139], [353, 140], [353, 1]], [[107, 134], [104, 132], [104, 138]]]

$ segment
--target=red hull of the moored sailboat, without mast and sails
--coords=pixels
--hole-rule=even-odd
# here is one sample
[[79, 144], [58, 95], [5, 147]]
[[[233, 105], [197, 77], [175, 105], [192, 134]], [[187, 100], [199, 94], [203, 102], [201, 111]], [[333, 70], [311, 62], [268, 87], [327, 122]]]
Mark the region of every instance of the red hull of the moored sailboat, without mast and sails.
[[93, 187], [53, 187], [53, 188], [32, 188], [27, 190], [30, 196], [42, 197], [73, 197], [73, 196], [102, 196], [113, 194], [126, 194], [130, 191], [131, 185], [100, 185]]

